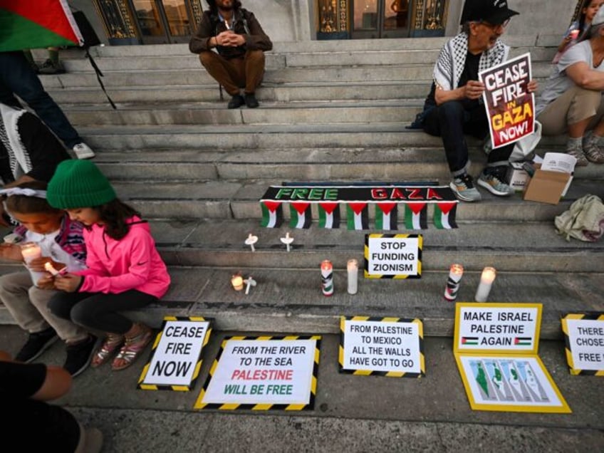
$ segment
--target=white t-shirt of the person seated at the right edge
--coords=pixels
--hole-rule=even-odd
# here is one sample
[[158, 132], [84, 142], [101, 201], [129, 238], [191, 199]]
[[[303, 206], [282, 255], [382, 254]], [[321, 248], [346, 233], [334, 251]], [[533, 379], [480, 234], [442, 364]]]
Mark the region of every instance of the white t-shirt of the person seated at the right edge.
[[546, 83], [546, 88], [541, 93], [535, 107], [536, 114], [539, 115], [546, 106], [553, 100], [558, 99], [562, 93], [566, 92], [575, 83], [566, 75], [566, 68], [575, 63], [583, 61], [588, 67], [595, 71], [604, 72], [604, 61], [597, 68], [593, 67], [593, 52], [591, 51], [590, 41], [582, 41], [576, 46], [573, 46], [564, 52], [558, 61], [558, 64], [553, 66], [553, 74]]

